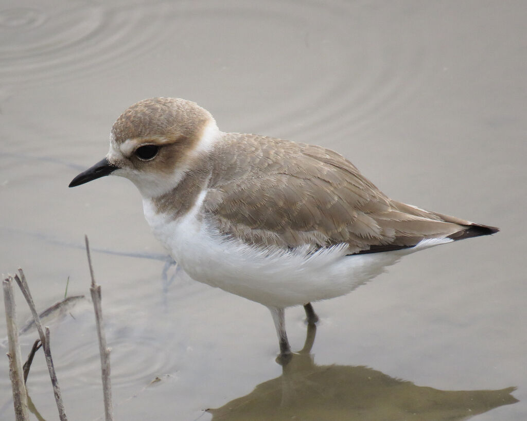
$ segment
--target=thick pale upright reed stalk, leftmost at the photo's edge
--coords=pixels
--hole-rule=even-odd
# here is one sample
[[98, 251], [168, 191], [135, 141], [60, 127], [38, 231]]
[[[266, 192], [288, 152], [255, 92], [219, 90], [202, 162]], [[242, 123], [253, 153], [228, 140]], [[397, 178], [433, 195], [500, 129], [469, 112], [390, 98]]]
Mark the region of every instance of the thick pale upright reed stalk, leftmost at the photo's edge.
[[18, 327], [16, 326], [16, 305], [13, 293], [13, 277], [3, 281], [5, 319], [7, 322], [7, 340], [9, 344], [9, 378], [13, 388], [13, 404], [16, 421], [30, 419], [27, 409], [27, 391], [22, 372], [22, 355], [18, 344]]

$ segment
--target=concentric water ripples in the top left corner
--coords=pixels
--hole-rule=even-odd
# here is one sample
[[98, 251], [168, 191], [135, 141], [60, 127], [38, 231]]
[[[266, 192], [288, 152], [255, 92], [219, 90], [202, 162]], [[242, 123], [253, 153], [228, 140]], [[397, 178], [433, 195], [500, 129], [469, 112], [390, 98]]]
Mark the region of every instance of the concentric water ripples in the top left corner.
[[165, 7], [47, 0], [0, 9], [0, 82], [13, 90], [60, 81], [140, 55], [163, 35], [163, 26], [142, 22]]

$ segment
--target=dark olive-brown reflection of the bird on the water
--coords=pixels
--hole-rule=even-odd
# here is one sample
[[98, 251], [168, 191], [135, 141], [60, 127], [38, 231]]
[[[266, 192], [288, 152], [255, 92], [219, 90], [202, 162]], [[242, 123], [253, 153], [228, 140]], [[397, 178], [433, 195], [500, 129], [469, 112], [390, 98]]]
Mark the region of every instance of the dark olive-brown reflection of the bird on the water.
[[318, 366], [310, 354], [316, 326], [304, 348], [282, 365], [282, 375], [221, 408], [213, 420], [461, 420], [518, 402], [515, 387], [439, 390], [416, 386], [363, 366]]

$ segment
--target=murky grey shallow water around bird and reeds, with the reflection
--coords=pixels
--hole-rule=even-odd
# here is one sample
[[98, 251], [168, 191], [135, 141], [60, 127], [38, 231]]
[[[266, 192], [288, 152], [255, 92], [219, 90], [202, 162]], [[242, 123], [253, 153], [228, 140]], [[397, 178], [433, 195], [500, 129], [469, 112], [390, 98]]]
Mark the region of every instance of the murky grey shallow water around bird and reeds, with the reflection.
[[[69, 295], [89, 296], [89, 235], [116, 419], [526, 419], [526, 12], [521, 0], [3, 2], [0, 270], [22, 266], [40, 309], [68, 276]], [[391, 197], [502, 231], [317, 303], [310, 355], [282, 372], [265, 307], [163, 276], [131, 183], [67, 188], [105, 155], [123, 109], [152, 96], [196, 101], [223, 131], [336, 149]], [[91, 304], [70, 313], [49, 322], [57, 376], [70, 419], [95, 419]], [[294, 349], [303, 317], [286, 313]], [[21, 337], [23, 355], [34, 339]], [[0, 418], [13, 419], [6, 358], [0, 373]], [[56, 419], [41, 354], [28, 390]]]

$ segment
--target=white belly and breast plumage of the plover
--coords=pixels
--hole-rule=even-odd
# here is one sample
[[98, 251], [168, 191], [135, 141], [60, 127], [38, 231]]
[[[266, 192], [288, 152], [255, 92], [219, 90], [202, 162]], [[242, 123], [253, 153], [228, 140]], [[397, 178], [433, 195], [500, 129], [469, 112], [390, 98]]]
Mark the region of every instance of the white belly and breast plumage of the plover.
[[347, 294], [401, 256], [450, 241], [426, 240], [412, 249], [356, 256], [345, 256], [346, 245], [308, 254], [307, 249], [263, 249], [221, 236], [196, 212], [170, 220], [153, 212], [149, 201], [143, 207], [155, 237], [194, 280], [278, 308]]

